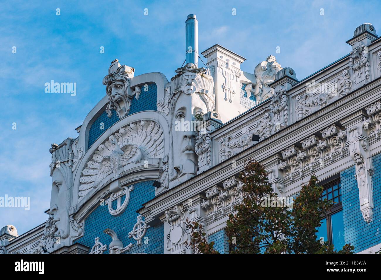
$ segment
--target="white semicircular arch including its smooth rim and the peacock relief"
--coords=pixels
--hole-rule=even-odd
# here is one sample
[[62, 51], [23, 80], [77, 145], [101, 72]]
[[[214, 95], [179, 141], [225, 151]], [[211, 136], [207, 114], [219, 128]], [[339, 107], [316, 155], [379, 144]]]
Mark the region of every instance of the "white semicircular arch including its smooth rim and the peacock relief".
[[[134, 113], [112, 125], [78, 163], [73, 203], [82, 204], [82, 200], [88, 199], [88, 194], [93, 194], [94, 189], [102, 189], [115, 179], [115, 173], [123, 176], [129, 170], [138, 171], [145, 169], [147, 165], [151, 168], [157, 166], [157, 169], [161, 168], [163, 171], [162, 159], [168, 155], [169, 150], [168, 135], [168, 122], [157, 111]], [[121, 164], [113, 167], [117, 147], [122, 150], [123, 155], [120, 158]]]

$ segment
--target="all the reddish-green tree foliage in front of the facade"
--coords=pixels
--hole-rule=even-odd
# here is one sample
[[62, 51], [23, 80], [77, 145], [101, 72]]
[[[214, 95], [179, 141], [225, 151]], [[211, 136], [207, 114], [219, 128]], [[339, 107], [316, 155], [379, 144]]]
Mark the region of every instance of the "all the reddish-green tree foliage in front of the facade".
[[[312, 175], [308, 184], [302, 185], [292, 210], [290, 205], [280, 203], [282, 200], [273, 191], [266, 170], [254, 159], [245, 162], [240, 180], [245, 195], [242, 203], [235, 206], [237, 212], [229, 216], [226, 227], [230, 253], [353, 254], [350, 244], [337, 251], [328, 242], [317, 240], [320, 221], [333, 205], [320, 199], [323, 187], [316, 184], [316, 176]], [[214, 242], [207, 242], [201, 225], [188, 222], [188, 227], [191, 246], [197, 252], [216, 252]]]

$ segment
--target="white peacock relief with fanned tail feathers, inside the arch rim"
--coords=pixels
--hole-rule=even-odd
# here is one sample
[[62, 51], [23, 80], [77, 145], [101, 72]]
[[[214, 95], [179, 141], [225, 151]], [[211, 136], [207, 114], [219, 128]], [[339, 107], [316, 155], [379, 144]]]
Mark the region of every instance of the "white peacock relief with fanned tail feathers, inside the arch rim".
[[157, 122], [141, 120], [120, 128], [99, 145], [93, 158], [83, 168], [78, 200], [101, 185], [109, 174], [114, 173], [114, 179], [118, 178], [122, 166], [146, 158], [163, 158], [163, 153], [164, 135]]

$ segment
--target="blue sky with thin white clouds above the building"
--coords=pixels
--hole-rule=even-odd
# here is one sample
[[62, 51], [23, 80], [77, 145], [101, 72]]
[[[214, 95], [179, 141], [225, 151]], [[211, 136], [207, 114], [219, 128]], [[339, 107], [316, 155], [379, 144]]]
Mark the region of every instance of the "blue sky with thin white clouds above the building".
[[[185, 59], [188, 14], [199, 20], [200, 52], [219, 43], [245, 57], [241, 69], [250, 73], [273, 54], [301, 80], [349, 53], [345, 42], [360, 24], [381, 34], [380, 10], [378, 1], [338, 0], [0, 1], [0, 196], [31, 202], [29, 211], [0, 208], [0, 227], [22, 234], [47, 219], [51, 143], [78, 136], [74, 129], [106, 94], [102, 79], [115, 58], [135, 75], [169, 80]], [[77, 83], [76, 96], [45, 93], [51, 80]]]

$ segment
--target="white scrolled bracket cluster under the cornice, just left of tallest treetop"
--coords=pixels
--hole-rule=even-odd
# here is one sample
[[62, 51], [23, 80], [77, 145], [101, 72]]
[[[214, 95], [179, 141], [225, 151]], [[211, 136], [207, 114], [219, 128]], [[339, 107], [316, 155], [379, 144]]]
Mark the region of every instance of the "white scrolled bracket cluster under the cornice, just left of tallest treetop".
[[224, 215], [227, 211], [233, 211], [234, 205], [242, 203], [243, 183], [235, 176], [222, 182], [223, 187], [213, 186], [205, 191], [207, 200], [201, 203], [206, 208], [208, 216], [216, 219], [218, 214]]

